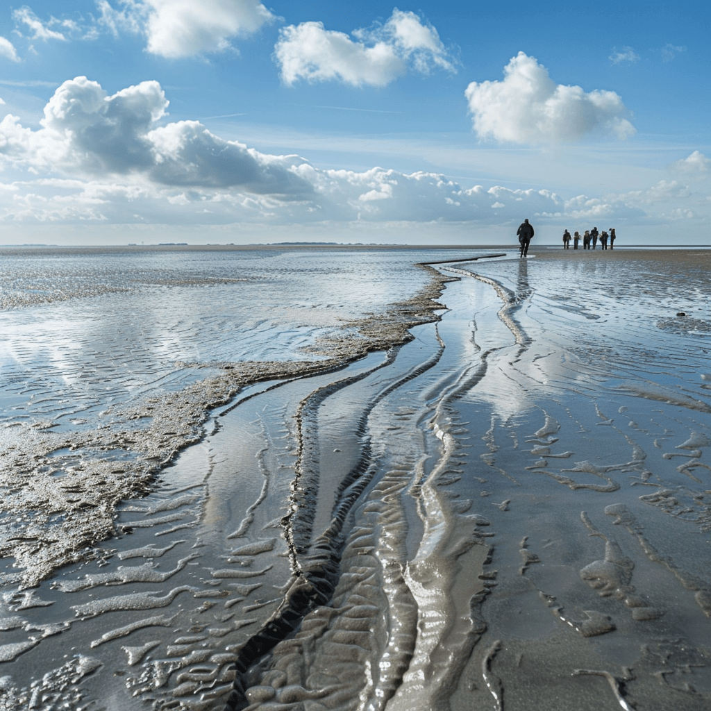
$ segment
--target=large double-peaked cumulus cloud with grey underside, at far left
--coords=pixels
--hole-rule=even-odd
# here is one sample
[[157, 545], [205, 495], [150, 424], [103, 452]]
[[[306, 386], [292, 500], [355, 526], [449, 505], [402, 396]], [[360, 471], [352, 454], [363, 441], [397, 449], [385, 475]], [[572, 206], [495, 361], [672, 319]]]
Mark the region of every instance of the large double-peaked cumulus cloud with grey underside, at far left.
[[226, 141], [196, 121], [160, 125], [168, 101], [158, 82], [112, 96], [86, 77], [61, 85], [44, 109], [41, 129], [12, 115], [0, 122], [0, 158], [34, 170], [104, 176], [197, 188], [238, 187], [280, 196], [308, 194], [292, 167], [297, 156], [268, 156]]

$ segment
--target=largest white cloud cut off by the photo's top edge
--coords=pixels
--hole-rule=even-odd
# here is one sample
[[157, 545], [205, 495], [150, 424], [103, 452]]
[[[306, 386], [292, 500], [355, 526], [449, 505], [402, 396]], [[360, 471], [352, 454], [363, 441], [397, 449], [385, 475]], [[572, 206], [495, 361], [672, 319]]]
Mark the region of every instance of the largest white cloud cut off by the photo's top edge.
[[223, 51], [231, 38], [274, 21], [258, 0], [119, 0], [118, 7], [98, 0], [97, 6], [103, 26], [145, 34], [147, 50], [168, 58]]

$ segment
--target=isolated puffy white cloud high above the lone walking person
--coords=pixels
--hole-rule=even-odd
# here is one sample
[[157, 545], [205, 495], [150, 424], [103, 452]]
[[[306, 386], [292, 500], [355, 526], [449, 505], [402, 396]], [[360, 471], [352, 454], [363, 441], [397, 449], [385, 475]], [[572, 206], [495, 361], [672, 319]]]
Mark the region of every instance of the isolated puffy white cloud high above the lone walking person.
[[548, 70], [523, 52], [506, 65], [503, 81], [471, 82], [465, 96], [483, 139], [542, 144], [591, 134], [624, 139], [635, 132], [615, 92], [555, 84]]

